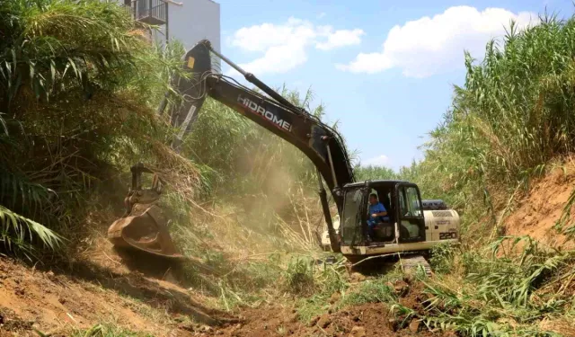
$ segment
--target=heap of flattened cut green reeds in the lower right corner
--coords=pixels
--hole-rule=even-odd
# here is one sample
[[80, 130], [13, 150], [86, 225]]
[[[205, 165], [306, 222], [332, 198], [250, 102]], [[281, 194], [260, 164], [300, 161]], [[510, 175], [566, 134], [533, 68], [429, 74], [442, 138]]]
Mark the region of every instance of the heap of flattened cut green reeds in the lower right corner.
[[[505, 244], [507, 252], [501, 252]], [[572, 282], [574, 259], [572, 251], [547, 250], [528, 238], [501, 239], [491, 250], [458, 261], [462, 274], [420, 278], [427, 297], [421, 306], [395, 307], [429, 328], [464, 336], [559, 336], [542, 322], [561, 320], [572, 311], [572, 295], [566, 291], [570, 285], [562, 280]], [[563, 327], [562, 333], [572, 333], [572, 328]]]

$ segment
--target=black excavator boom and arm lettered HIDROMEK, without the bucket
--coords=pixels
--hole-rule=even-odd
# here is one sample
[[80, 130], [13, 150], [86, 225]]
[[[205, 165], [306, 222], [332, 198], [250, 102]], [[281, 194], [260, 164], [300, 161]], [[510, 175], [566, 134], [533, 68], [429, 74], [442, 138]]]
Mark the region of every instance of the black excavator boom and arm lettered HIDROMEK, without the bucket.
[[[226, 61], [268, 96], [252, 91], [231, 77], [214, 72], [211, 65], [212, 54]], [[288, 102], [257, 77], [244, 72], [242, 68], [217, 53], [211, 48], [208, 40], [202, 40], [190, 49], [183, 59], [183, 65], [190, 76], [173, 79], [174, 86], [183, 97], [181, 102], [170, 107], [172, 124], [179, 129], [173, 139], [174, 149], [179, 151], [182, 138], [190, 132], [203, 102], [210, 96], [285, 139], [307, 155], [323, 177], [341, 211], [343, 207], [341, 188], [346, 183], [354, 182], [354, 176], [341, 136], [334, 129], [304, 109]], [[163, 102], [159, 113], [164, 113], [164, 108], [168, 105], [167, 102]], [[326, 192], [321, 182], [320, 197], [332, 249], [338, 252], [339, 243], [332, 226]]]

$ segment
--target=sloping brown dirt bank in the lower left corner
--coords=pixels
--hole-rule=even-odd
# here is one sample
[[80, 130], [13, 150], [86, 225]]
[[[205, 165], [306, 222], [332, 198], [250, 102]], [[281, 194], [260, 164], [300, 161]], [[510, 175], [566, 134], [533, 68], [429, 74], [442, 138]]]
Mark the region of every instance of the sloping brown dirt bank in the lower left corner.
[[[0, 335], [69, 333], [111, 323], [155, 336], [189, 336], [187, 324], [217, 325], [234, 317], [200, 304], [173, 283], [118, 273], [90, 262], [39, 270], [0, 258]], [[10, 335], [10, 334], [8, 334]]]

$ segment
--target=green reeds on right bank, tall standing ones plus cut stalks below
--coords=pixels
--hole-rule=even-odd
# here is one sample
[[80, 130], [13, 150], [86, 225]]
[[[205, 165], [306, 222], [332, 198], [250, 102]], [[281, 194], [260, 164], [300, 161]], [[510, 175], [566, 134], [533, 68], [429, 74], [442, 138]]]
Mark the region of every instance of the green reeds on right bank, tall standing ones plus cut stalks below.
[[[465, 84], [455, 87], [451, 109], [423, 146], [423, 161], [399, 173], [356, 169], [361, 179], [408, 180], [420, 185], [423, 198], [447, 200], [463, 215], [464, 233], [461, 247], [434, 250], [436, 276], [419, 279], [428, 298], [422, 306], [402, 306], [372, 282], [346, 301], [383, 298], [405, 320], [464, 336], [575, 332], [575, 252], [497, 235], [500, 211], [517, 190], [573, 149], [574, 34], [575, 18], [545, 16], [526, 31], [512, 24], [503, 40], [488, 44], [482, 63], [466, 55]], [[570, 238], [574, 196], [556, 226]]]

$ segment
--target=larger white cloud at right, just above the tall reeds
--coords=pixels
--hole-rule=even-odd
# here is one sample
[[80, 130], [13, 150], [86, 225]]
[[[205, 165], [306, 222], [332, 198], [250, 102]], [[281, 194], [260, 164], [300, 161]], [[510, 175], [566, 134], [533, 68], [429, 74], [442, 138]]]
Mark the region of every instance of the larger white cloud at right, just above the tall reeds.
[[485, 44], [505, 34], [515, 20], [518, 29], [538, 22], [535, 13], [511, 13], [502, 8], [480, 12], [470, 6], [448, 8], [430, 18], [395, 25], [387, 34], [381, 52], [360, 53], [348, 65], [336, 67], [353, 73], [374, 74], [399, 67], [403, 75], [426, 77], [453, 67], [464, 66], [464, 49], [481, 57]]

